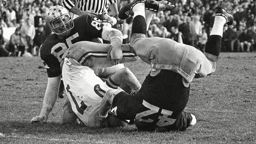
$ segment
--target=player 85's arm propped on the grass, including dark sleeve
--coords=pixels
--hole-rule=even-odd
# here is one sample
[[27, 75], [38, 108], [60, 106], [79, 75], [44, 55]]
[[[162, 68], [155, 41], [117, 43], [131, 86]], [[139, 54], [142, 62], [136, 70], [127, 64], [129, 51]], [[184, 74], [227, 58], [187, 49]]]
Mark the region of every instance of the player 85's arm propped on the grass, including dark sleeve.
[[31, 123], [46, 123], [48, 116], [58, 98], [59, 84], [61, 81], [61, 71], [59, 61], [54, 55], [41, 55], [48, 74], [47, 87], [43, 99], [43, 106], [38, 116], [31, 119]]

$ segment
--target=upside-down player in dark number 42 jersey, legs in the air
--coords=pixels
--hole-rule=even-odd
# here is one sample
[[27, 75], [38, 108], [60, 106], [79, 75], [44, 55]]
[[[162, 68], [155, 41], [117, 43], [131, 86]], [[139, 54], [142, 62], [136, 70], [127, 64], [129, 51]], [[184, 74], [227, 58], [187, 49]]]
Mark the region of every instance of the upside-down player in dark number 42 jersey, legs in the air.
[[[150, 10], [162, 10], [162, 6], [168, 7], [171, 4], [160, 1], [150, 5], [151, 8], [145, 10], [149, 7], [146, 0], [135, 0], [125, 5], [119, 16], [134, 14], [131, 51], [149, 63], [152, 70], [137, 94], [114, 89], [105, 93], [97, 117], [98, 126], [105, 121], [110, 109], [119, 119], [135, 118], [139, 130], [164, 127], [167, 130], [184, 131], [196, 123], [193, 114], [183, 111], [189, 99], [190, 82], [193, 78], [205, 77], [215, 71], [223, 26], [231, 25], [234, 16], [223, 7], [216, 7], [213, 29], [203, 54], [195, 47], [171, 39], [146, 38], [147, 26], [155, 13]], [[154, 5], [155, 8], [152, 8]], [[121, 84], [115, 80], [113, 82]]]

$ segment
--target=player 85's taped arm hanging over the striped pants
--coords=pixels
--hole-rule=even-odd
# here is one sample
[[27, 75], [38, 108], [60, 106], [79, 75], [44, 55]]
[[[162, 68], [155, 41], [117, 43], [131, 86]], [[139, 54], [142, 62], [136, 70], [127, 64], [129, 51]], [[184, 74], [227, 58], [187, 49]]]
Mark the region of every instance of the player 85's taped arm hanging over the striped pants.
[[122, 32], [111, 27], [103, 26], [101, 36], [102, 39], [110, 41], [110, 56], [113, 65], [117, 65], [120, 62], [120, 59], [123, 57], [121, 48], [123, 42]]

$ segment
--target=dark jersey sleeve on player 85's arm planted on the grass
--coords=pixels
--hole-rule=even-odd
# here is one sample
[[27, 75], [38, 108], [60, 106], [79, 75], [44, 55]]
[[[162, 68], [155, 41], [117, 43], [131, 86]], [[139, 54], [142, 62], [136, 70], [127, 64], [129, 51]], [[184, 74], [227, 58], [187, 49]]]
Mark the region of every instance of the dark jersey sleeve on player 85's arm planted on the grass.
[[61, 74], [60, 63], [54, 55], [41, 55], [41, 59], [45, 65], [49, 78], [57, 77]]

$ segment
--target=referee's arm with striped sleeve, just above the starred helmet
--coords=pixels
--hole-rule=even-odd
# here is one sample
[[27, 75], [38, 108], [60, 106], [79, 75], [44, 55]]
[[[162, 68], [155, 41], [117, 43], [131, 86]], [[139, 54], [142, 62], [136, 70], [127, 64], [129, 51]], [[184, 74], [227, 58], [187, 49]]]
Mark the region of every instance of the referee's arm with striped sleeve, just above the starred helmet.
[[61, 5], [63, 7], [65, 7], [68, 11], [70, 11], [71, 13], [74, 13], [76, 15], [83, 15], [83, 14], [93, 14], [93, 15], [98, 15], [99, 13], [94, 13], [91, 12], [89, 10], [86, 11], [82, 11], [80, 10], [77, 6], [75, 6], [75, 4], [71, 1], [71, 0], [61, 0]]

